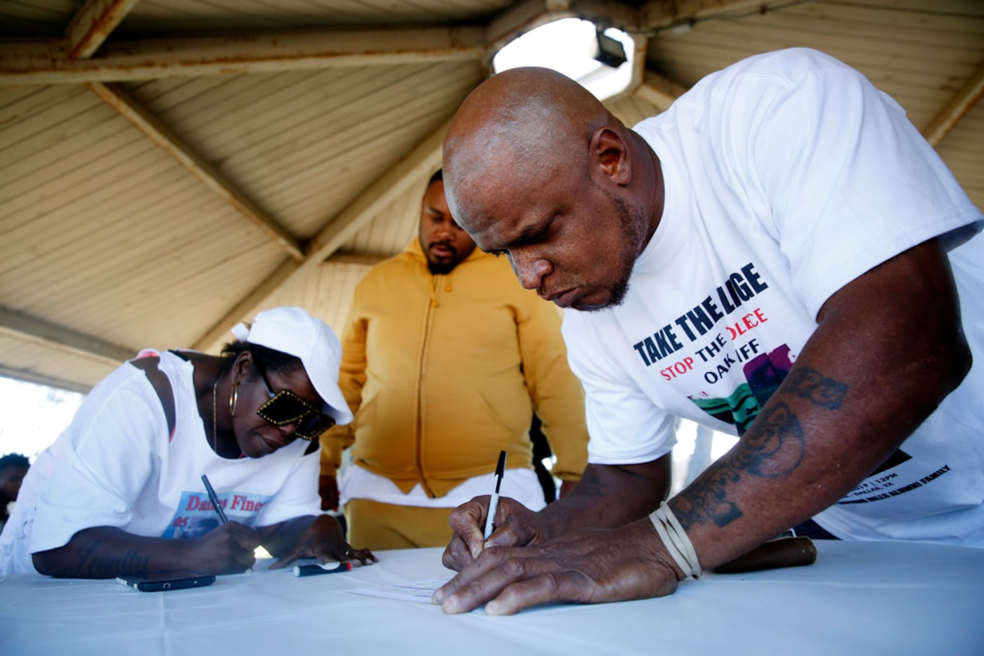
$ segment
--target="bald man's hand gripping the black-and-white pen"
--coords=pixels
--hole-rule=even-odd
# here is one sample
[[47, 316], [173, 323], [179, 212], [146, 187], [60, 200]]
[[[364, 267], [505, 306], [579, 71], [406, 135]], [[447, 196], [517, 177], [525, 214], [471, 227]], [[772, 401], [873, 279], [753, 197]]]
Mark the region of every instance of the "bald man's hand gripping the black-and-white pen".
[[489, 497], [483, 496], [475, 497], [452, 511], [449, 522], [453, 535], [441, 559], [444, 567], [461, 571], [478, 558], [486, 546], [523, 547], [547, 539], [540, 514], [513, 499], [500, 497], [494, 517], [495, 531], [486, 541], [483, 529], [488, 507]]

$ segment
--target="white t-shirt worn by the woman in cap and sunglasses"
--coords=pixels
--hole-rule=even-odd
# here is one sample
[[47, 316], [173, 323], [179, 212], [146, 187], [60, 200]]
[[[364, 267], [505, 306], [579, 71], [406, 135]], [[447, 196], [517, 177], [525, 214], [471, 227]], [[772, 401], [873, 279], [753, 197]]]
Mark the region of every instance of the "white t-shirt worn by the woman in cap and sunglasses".
[[31, 465], [0, 535], [0, 573], [34, 571], [32, 553], [64, 546], [93, 526], [199, 537], [218, 524], [203, 474], [230, 521], [268, 526], [321, 512], [320, 455], [304, 455], [310, 443], [297, 440], [262, 458], [219, 457], [198, 414], [191, 363], [159, 355], [174, 390], [173, 438], [144, 371], [130, 364], [116, 369]]

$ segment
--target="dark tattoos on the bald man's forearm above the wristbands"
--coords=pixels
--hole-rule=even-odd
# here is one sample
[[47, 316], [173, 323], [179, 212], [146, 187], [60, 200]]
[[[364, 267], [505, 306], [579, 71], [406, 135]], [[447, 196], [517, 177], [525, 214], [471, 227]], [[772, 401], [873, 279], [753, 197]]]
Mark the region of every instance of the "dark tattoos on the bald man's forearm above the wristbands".
[[[847, 386], [804, 367], [791, 372], [777, 392], [835, 411], [843, 404]], [[786, 476], [800, 466], [805, 452], [806, 438], [795, 410], [777, 400], [759, 413], [737, 447], [711, 464], [686, 496], [674, 500], [673, 509], [684, 528], [707, 521], [726, 526], [742, 516], [741, 507], [729, 499], [730, 486], [742, 476]]]

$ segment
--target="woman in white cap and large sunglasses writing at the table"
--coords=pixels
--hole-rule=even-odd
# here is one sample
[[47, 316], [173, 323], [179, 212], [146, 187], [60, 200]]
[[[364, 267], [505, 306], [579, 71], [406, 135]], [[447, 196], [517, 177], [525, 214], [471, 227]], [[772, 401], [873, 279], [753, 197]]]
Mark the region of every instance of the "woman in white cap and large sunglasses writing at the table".
[[272, 567], [376, 560], [320, 512], [318, 437], [351, 420], [338, 338], [285, 307], [233, 333], [221, 356], [145, 350], [92, 388], [25, 478], [0, 573], [229, 574], [252, 567], [260, 545]]

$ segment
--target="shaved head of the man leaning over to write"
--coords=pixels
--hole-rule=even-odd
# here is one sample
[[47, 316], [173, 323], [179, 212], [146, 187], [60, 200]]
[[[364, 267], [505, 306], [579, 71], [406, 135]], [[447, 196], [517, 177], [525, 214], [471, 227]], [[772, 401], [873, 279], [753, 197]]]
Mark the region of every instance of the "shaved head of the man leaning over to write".
[[658, 160], [586, 89], [521, 68], [473, 90], [444, 142], [445, 196], [483, 251], [561, 307], [617, 305], [661, 212]]

